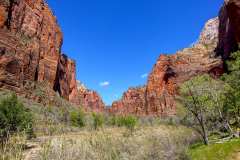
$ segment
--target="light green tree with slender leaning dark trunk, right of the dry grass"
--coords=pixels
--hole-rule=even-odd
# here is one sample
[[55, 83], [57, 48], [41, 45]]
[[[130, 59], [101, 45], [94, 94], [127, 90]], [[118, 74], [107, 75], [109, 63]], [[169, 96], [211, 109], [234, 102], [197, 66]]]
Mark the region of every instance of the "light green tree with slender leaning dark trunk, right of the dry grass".
[[204, 144], [208, 145], [209, 123], [221, 121], [231, 132], [228, 120], [223, 116], [225, 85], [214, 80], [209, 75], [194, 77], [180, 88], [180, 102], [196, 120], [194, 127], [202, 136]]

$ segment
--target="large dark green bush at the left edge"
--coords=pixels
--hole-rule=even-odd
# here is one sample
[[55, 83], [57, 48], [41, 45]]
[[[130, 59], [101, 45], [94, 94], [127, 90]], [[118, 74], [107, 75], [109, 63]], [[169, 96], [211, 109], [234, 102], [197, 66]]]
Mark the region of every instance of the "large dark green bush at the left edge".
[[0, 102], [0, 140], [22, 131], [33, 136], [33, 116], [13, 94]]

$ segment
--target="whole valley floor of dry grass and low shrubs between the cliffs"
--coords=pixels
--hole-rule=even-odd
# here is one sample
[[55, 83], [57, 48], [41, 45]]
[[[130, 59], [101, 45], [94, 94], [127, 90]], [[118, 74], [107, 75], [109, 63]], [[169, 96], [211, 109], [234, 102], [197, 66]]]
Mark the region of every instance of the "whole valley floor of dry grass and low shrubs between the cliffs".
[[1, 160], [184, 159], [187, 146], [199, 140], [192, 129], [167, 119], [42, 106], [8, 92], [1, 97], [2, 103], [10, 99], [29, 114], [27, 126], [35, 135], [29, 137], [25, 128], [9, 135], [1, 146]]

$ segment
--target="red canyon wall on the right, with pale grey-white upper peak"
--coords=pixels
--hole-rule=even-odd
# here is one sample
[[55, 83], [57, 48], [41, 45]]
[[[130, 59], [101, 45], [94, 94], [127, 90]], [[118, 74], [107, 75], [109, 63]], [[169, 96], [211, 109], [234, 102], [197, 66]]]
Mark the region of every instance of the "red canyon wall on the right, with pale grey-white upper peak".
[[225, 60], [238, 48], [239, 40], [240, 1], [226, 0], [219, 17], [205, 24], [194, 46], [174, 55], [162, 54], [148, 77], [146, 87], [130, 88], [121, 100], [113, 103], [110, 112], [174, 115], [178, 86], [203, 73], [212, 76], [221, 75], [225, 71]]

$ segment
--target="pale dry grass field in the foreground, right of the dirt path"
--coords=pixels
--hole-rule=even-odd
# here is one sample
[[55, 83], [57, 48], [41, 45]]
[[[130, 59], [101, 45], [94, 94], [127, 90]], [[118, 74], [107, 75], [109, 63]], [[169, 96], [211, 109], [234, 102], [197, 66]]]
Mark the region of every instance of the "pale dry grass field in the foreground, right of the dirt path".
[[139, 128], [129, 135], [123, 128], [62, 135], [42, 144], [39, 160], [177, 160], [196, 139], [185, 127]]

